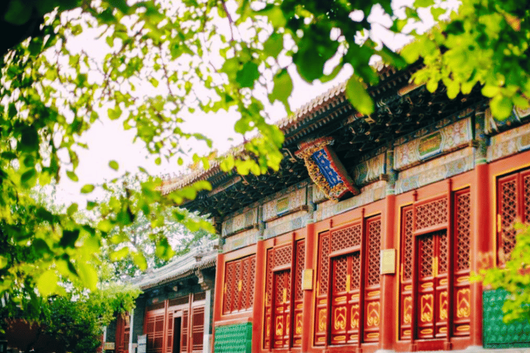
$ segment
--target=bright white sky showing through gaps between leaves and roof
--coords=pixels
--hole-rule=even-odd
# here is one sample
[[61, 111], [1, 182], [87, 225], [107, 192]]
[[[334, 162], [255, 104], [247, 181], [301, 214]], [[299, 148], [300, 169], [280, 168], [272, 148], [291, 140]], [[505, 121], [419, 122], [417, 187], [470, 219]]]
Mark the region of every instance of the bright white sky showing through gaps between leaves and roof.
[[[400, 1], [404, 3], [405, 1]], [[412, 1], [407, 1], [409, 5]], [[373, 13], [369, 19], [374, 23], [385, 23], [385, 19], [381, 14]], [[388, 26], [388, 23], [386, 23]], [[432, 20], [430, 24], [424, 25], [426, 28], [432, 26]], [[407, 39], [404, 35], [397, 35], [389, 37], [389, 34], [384, 28], [378, 24], [373, 26], [372, 34], [373, 39], [382, 39], [387, 46], [393, 50], [397, 50], [406, 43]], [[104, 39], [101, 39], [103, 41]], [[86, 44], [80, 44], [86, 45]], [[105, 46], [105, 45], [104, 45]], [[334, 85], [341, 83], [349, 78], [351, 70], [343, 70], [336, 79], [326, 84], [315, 81], [312, 85], [305, 83], [302, 79], [298, 78], [293, 81], [294, 89], [289, 103], [291, 103], [291, 109], [295, 111], [301, 105], [308, 103], [314, 97], [322, 94], [326, 90], [332, 88]], [[147, 83], [148, 84], [148, 83]], [[286, 113], [279, 103], [276, 103], [273, 107], [268, 106], [269, 114], [273, 119], [278, 120], [286, 116]], [[233, 125], [235, 123], [235, 116], [228, 113], [218, 114], [204, 114], [197, 112], [193, 114], [191, 119], [188, 119], [190, 129], [196, 132], [201, 132], [207, 137], [213, 139], [214, 146], [219, 152], [224, 152], [232, 145], [240, 143], [241, 137], [235, 134]], [[84, 206], [85, 196], [79, 194], [79, 189], [87, 184], [99, 184], [105, 180], [110, 180], [115, 177], [119, 177], [124, 172], [129, 171], [135, 173], [138, 171], [138, 167], [141, 166], [149, 170], [151, 174], [179, 174], [185, 172], [182, 166], [177, 165], [177, 161], [167, 163], [163, 161], [161, 165], [156, 165], [154, 160], [155, 157], [149, 156], [148, 152], [144, 148], [144, 143], [139, 141], [133, 143], [134, 132], [133, 130], [124, 131], [121, 121], [110, 121], [106, 118], [102, 118], [101, 121], [97, 121], [92, 128], [84, 134], [83, 141], [88, 143], [89, 150], [82, 150], [79, 152], [79, 167], [77, 168], [77, 176], [79, 182], [73, 183], [66, 176], [61, 177], [61, 183], [57, 188], [57, 202], [58, 203], [70, 203], [79, 202], [80, 206]], [[233, 141], [229, 139], [233, 138]], [[195, 149], [207, 152], [204, 143], [202, 145], [194, 145]], [[119, 171], [108, 167], [108, 162], [116, 160], [119, 163]], [[187, 163], [185, 163], [187, 164]], [[66, 168], [63, 168], [63, 172]], [[92, 197], [90, 197], [92, 196]], [[96, 195], [89, 195], [89, 199]]]

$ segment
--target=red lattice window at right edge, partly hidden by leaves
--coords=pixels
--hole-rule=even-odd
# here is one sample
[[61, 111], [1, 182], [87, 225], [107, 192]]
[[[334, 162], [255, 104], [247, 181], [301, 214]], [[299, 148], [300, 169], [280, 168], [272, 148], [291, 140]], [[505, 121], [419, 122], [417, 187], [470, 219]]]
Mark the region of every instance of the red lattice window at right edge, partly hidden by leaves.
[[517, 222], [530, 222], [530, 170], [516, 172], [497, 181], [498, 259], [509, 259], [516, 245]]

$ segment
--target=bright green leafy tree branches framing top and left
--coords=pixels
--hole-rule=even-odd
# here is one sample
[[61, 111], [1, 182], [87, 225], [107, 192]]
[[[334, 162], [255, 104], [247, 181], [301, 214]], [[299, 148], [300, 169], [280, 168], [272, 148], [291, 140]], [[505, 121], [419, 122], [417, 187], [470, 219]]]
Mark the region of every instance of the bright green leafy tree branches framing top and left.
[[[59, 279], [94, 289], [97, 254], [113, 230], [133, 224], [138, 214], [156, 228], [166, 207], [210, 188], [200, 182], [162, 197], [159, 180], [151, 178], [138, 190], [88, 202], [101, 214], [96, 225], [75, 219], [76, 204], [50, 212], [35, 203], [28, 190], [58, 181], [61, 170], [77, 181], [78, 152], [86, 148], [80, 137], [106, 117], [133, 130], [158, 163], [176, 158], [181, 164], [184, 140], [211, 145], [202, 134], [184, 130], [186, 114], [237, 112], [235, 131], [259, 137], [246, 140], [246, 152], [223, 166], [259, 174], [278, 168], [283, 142], [263, 102], [279, 101], [291, 112], [295, 72], [308, 82], [328, 81], [351, 66], [346, 94], [364, 114], [374, 110], [365, 88], [377, 83], [369, 65], [375, 56], [397, 68], [422, 59], [425, 66], [414, 80], [431, 91], [443, 83], [449, 98], [480, 84], [497, 117], [507, 117], [513, 105], [527, 108], [530, 97], [530, 10], [518, 0], [463, 0], [451, 13], [444, 10], [446, 1], [415, 0], [400, 9], [400, 17], [390, 0], [6, 3], [3, 23], [22, 28], [43, 17], [38, 34], [11, 48], [0, 71], [0, 293], [20, 303], [35, 295], [33, 288], [42, 296], [63, 292]], [[411, 28], [424, 14], [446, 20], [424, 34], [409, 30], [414, 40], [396, 54], [371, 36], [372, 12], [391, 23], [390, 32]], [[99, 54], [79, 46], [87, 33], [101, 39]], [[193, 159], [208, 168], [207, 158]], [[110, 161], [109, 167], [119, 170], [119, 163]], [[190, 230], [211, 229], [186, 212], [172, 212]], [[129, 240], [126, 232], [119, 234], [116, 243]], [[168, 248], [164, 236], [157, 240]], [[138, 265], [145, 263], [140, 252], [131, 255]]]

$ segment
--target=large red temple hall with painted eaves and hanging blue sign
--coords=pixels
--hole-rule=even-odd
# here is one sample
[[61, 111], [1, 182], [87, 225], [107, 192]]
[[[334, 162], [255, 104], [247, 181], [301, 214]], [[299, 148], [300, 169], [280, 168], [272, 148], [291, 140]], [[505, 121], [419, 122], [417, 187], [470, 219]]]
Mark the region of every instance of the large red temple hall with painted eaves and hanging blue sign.
[[530, 110], [498, 121], [480, 88], [451, 101], [410, 84], [417, 68], [378, 69], [371, 116], [339, 85], [280, 121], [276, 172], [214, 164], [164, 183], [213, 185], [186, 207], [222, 239], [215, 352], [529, 346], [528, 323], [502, 323], [505, 294], [470, 275], [502, 265], [530, 221]]

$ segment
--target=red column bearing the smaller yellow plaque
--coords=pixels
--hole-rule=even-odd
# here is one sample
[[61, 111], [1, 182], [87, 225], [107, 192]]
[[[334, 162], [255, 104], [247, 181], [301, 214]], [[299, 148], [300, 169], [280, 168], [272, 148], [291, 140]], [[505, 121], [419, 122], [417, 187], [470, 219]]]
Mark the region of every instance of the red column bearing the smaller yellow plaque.
[[[306, 225], [306, 258], [304, 261], [305, 270], [313, 270], [312, 290], [304, 290], [304, 309], [303, 309], [303, 323], [302, 323], [302, 352], [308, 352], [313, 341], [313, 334], [311, 334], [311, 325], [313, 323], [313, 291], [315, 290], [315, 276], [316, 270], [313, 268], [313, 257], [317, 251], [317, 237], [315, 235], [315, 223], [311, 217], [308, 218]], [[302, 278], [302, 281], [304, 279]], [[303, 283], [302, 283], [303, 284]]]

